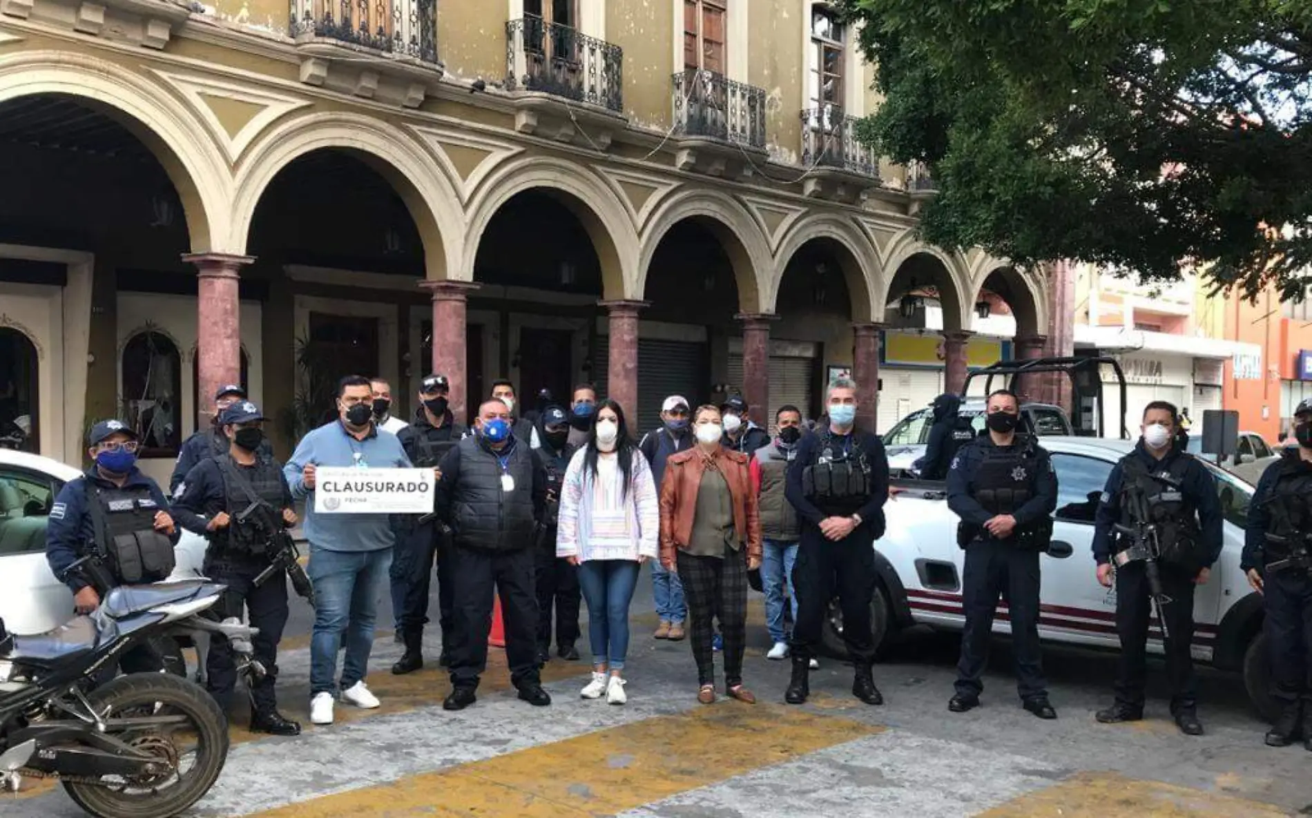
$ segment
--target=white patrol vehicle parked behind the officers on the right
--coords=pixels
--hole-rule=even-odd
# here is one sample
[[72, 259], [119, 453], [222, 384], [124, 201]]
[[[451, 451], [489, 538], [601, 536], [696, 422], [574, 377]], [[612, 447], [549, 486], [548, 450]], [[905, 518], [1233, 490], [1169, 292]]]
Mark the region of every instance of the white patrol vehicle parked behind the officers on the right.
[[[1052, 545], [1042, 558], [1039, 636], [1050, 642], [1119, 650], [1115, 593], [1098, 585], [1093, 561], [1093, 515], [1113, 465], [1128, 452], [1131, 440], [1044, 437], [1052, 455], [1059, 496]], [[956, 545], [958, 518], [947, 507], [946, 482], [905, 480], [918, 447], [892, 447], [890, 469], [895, 496], [884, 506], [888, 530], [875, 543], [879, 582], [874, 600], [878, 644], [913, 624], [960, 631], [964, 555]], [[1194, 658], [1221, 670], [1242, 672], [1257, 709], [1273, 712], [1267, 692], [1269, 667], [1262, 637], [1261, 596], [1239, 569], [1244, 524], [1253, 486], [1207, 464], [1225, 515], [1225, 544], [1211, 578], [1194, 600]], [[1010, 633], [1006, 606], [1000, 604], [993, 629]], [[842, 616], [837, 606], [824, 637], [827, 648], [842, 652]], [[1162, 652], [1160, 636], [1148, 649]]]

